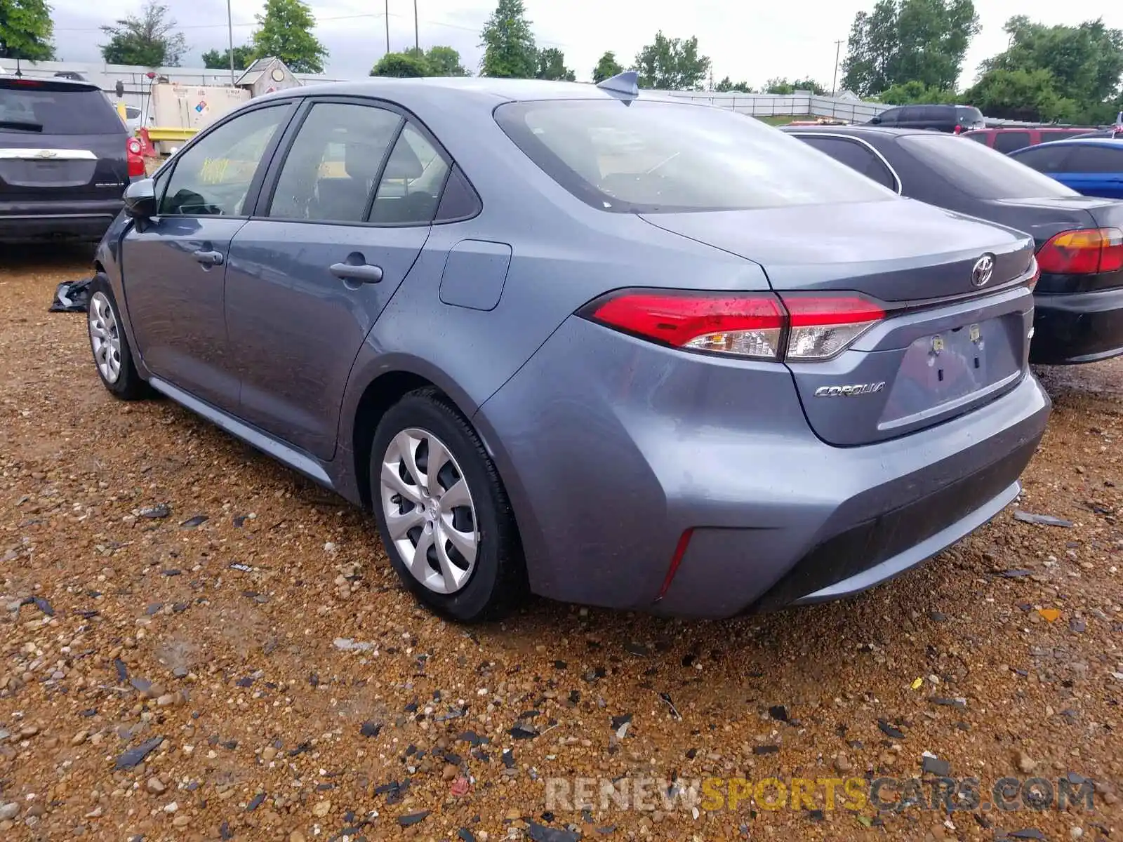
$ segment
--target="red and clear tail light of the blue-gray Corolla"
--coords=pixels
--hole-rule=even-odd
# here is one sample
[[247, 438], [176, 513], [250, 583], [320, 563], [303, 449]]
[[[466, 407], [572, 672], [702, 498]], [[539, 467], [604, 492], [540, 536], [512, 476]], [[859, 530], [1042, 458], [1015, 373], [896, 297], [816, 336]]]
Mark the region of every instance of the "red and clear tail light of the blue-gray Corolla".
[[814, 361], [841, 354], [885, 311], [856, 293], [712, 293], [624, 290], [578, 313], [684, 350]]

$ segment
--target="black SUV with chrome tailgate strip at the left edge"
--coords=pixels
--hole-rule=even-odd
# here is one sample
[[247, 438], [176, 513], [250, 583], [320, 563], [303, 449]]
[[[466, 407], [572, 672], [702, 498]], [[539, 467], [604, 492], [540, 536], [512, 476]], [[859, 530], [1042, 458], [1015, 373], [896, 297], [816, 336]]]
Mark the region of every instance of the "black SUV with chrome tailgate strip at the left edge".
[[128, 135], [97, 85], [0, 76], [0, 241], [97, 241], [124, 207]]

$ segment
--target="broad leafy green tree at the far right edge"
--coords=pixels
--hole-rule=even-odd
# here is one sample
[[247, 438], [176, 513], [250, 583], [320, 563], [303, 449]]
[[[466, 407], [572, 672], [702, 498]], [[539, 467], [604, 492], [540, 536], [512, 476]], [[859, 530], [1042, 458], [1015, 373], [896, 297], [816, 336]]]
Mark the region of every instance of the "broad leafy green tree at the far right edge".
[[[983, 74], [973, 91], [995, 97], [995, 102], [1005, 103], [1007, 111], [1043, 109], [1086, 122], [1115, 118], [1123, 74], [1123, 33], [1108, 29], [1099, 19], [1078, 26], [1046, 26], [1024, 16], [1011, 18], [1004, 28], [1010, 46], [983, 63]], [[1014, 92], [1029, 99], [1022, 103], [1005, 99]], [[995, 116], [1013, 119], [1008, 113]]]

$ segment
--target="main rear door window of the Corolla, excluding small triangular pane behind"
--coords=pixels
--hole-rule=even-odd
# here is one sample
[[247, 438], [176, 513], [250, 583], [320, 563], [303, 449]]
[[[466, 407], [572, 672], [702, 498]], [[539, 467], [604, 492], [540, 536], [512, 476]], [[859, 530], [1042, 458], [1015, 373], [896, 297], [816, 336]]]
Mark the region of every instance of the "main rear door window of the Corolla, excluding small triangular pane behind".
[[317, 102], [296, 132], [266, 216], [362, 222], [402, 118], [384, 108]]

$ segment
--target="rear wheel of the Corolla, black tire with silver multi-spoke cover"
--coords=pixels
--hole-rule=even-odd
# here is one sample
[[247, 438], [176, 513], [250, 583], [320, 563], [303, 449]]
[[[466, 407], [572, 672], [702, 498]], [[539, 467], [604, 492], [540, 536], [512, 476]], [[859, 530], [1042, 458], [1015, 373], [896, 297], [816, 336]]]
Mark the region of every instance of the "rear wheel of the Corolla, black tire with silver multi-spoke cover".
[[[435, 451], [440, 465], [430, 478]], [[430, 494], [433, 482], [439, 491]], [[390, 562], [438, 614], [463, 623], [493, 620], [524, 595], [506, 492], [475, 430], [437, 390], [410, 392], [382, 417], [371, 446], [371, 500]]]

